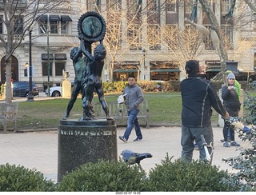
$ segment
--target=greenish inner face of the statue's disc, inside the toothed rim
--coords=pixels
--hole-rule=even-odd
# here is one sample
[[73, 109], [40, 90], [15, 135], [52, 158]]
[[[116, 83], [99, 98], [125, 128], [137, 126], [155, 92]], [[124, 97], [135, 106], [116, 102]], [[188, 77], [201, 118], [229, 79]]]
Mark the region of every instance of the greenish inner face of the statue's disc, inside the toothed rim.
[[82, 21], [82, 32], [89, 38], [97, 38], [102, 33], [102, 22], [89, 16]]

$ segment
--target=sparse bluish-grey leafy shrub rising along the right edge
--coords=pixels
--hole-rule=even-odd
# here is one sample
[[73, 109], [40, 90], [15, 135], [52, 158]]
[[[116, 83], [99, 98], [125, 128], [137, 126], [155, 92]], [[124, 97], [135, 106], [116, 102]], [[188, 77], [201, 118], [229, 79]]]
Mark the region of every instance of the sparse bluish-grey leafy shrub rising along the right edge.
[[234, 169], [238, 170], [234, 174], [233, 180], [227, 180], [226, 184], [241, 185], [239, 191], [256, 192], [256, 96], [248, 94], [244, 101], [244, 121], [243, 124], [250, 127], [250, 133], [246, 134], [238, 130], [238, 137], [242, 141], [249, 141], [250, 147], [241, 148], [238, 157], [222, 159]]

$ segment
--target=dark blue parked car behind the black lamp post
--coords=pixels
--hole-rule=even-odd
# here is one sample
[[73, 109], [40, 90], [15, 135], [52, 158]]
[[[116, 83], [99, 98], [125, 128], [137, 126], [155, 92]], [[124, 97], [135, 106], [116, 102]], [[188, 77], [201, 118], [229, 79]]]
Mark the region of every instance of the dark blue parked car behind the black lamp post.
[[[30, 92], [30, 83], [29, 82], [13, 82], [13, 97], [27, 97]], [[32, 82], [32, 92], [34, 96], [38, 95], [38, 86]]]

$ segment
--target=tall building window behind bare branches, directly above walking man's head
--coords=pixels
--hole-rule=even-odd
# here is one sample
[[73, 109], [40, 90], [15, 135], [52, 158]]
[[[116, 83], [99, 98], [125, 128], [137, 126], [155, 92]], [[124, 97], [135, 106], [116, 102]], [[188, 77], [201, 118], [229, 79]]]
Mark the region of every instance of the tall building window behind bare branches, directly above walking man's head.
[[141, 49], [142, 32], [140, 25], [131, 25], [127, 31], [127, 38], [130, 46], [130, 50]]

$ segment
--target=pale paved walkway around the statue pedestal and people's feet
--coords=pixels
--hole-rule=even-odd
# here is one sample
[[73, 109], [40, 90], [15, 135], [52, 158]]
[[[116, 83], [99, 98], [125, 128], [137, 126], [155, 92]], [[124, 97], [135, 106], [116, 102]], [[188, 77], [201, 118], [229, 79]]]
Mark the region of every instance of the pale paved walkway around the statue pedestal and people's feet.
[[[122, 150], [130, 149], [136, 153], [151, 153], [152, 158], [141, 161], [143, 169], [148, 172], [161, 164], [161, 160], [169, 156], [177, 159], [181, 156], [182, 147], [180, 144], [180, 127], [156, 127], [142, 128], [143, 141], [134, 142], [134, 130], [130, 135], [130, 140], [125, 143], [118, 139], [123, 135], [125, 128], [118, 128], [118, 157]], [[214, 158], [213, 165], [220, 169], [232, 170], [230, 165], [222, 161], [223, 158], [236, 157], [239, 155], [237, 147], [224, 148], [220, 139], [222, 138], [222, 128], [214, 128]], [[242, 147], [249, 147], [249, 141], [241, 141], [236, 137], [236, 141]], [[30, 132], [30, 133], [7, 133], [0, 136], [0, 165], [9, 163], [10, 165], [23, 165], [25, 168], [37, 169], [45, 177], [57, 181], [58, 173], [58, 133], [54, 131]], [[194, 150], [194, 159], [198, 159], [198, 150]]]

